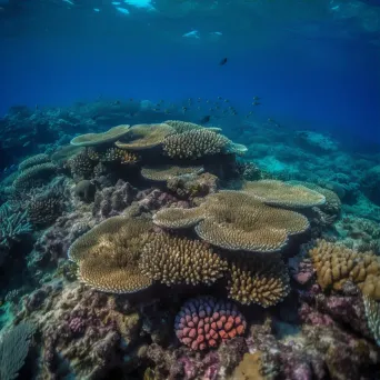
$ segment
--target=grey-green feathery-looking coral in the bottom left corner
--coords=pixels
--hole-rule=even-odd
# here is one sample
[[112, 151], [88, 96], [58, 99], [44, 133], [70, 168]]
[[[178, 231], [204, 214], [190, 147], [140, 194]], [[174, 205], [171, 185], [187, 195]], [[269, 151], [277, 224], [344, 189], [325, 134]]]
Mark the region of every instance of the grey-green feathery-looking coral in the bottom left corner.
[[0, 337], [0, 379], [18, 378], [28, 356], [34, 328], [21, 322]]

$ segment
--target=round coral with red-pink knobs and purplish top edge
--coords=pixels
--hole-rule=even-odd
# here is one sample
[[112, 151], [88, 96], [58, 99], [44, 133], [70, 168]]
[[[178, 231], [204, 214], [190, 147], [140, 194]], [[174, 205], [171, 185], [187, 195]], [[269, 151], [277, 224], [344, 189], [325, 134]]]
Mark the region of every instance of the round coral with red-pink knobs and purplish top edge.
[[247, 322], [232, 302], [212, 297], [190, 299], [176, 317], [176, 334], [192, 350], [217, 348], [222, 341], [242, 336]]

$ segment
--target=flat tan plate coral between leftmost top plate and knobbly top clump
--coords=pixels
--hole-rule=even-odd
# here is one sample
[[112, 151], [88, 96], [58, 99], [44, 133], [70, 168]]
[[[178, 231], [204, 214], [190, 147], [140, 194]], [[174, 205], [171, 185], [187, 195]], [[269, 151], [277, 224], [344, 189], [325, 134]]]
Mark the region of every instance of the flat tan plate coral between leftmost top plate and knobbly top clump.
[[137, 124], [129, 129], [124, 137], [128, 142], [117, 141], [116, 146], [127, 150], [143, 150], [160, 146], [166, 137], [176, 130], [166, 123]]

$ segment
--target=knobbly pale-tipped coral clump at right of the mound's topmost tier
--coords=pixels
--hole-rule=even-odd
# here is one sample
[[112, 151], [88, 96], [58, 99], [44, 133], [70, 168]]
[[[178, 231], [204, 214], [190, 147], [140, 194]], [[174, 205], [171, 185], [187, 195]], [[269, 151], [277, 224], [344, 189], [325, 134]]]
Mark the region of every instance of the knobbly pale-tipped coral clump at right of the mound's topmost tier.
[[163, 151], [170, 158], [194, 160], [226, 151], [229, 139], [207, 129], [196, 129], [164, 139]]

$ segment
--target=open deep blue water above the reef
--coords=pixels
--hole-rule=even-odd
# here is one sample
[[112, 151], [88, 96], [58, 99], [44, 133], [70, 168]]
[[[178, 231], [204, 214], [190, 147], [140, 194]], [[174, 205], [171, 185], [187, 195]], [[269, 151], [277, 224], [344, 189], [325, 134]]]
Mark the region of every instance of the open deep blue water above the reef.
[[[1, 114], [14, 104], [64, 107], [99, 96], [221, 96], [243, 114], [260, 96], [258, 118], [380, 143], [373, 1], [206, 1], [183, 11], [190, 2], [161, 0], [159, 12], [121, 4], [130, 14], [108, 1], [73, 3], [2, 6]], [[192, 30], [199, 39], [182, 37]]]

